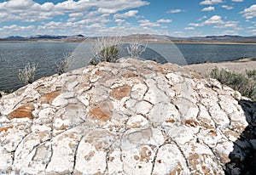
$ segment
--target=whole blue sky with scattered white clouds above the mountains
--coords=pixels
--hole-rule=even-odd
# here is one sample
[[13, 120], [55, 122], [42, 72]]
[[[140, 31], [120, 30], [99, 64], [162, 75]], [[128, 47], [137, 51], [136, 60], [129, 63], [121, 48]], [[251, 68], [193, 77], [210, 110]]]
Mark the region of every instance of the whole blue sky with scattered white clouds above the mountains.
[[256, 0], [0, 0], [0, 37], [117, 31], [256, 36]]

